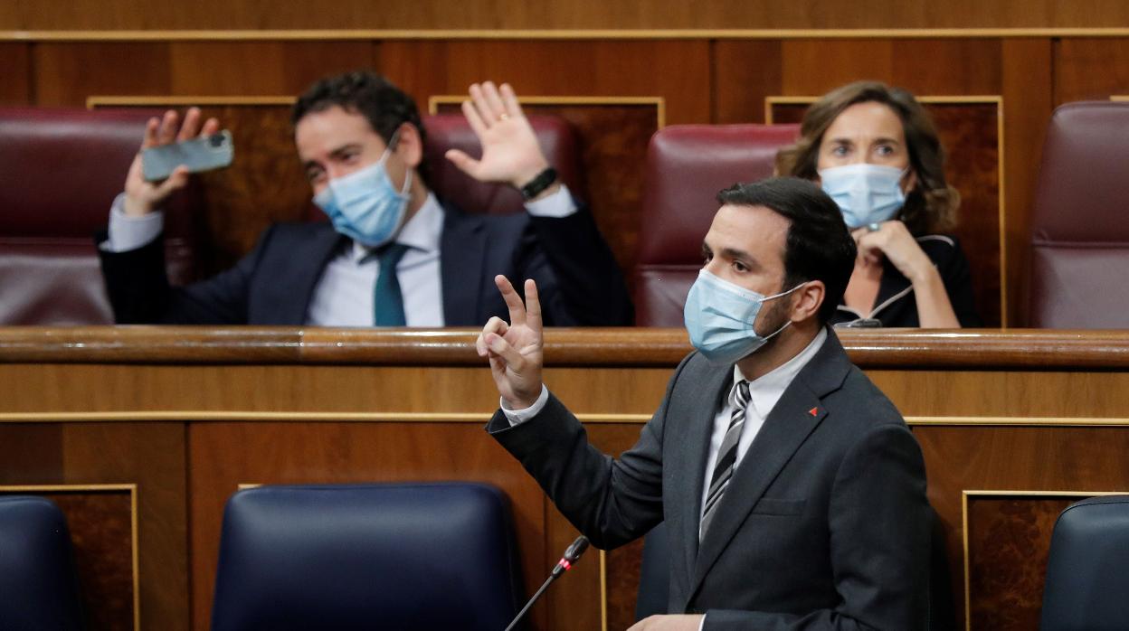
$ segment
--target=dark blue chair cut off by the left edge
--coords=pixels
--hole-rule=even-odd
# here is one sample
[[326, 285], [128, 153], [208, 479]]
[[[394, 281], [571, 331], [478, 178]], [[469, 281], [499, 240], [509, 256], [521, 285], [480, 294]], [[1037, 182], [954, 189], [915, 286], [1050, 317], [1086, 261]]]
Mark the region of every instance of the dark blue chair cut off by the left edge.
[[0, 628], [82, 629], [67, 518], [40, 497], [0, 497]]

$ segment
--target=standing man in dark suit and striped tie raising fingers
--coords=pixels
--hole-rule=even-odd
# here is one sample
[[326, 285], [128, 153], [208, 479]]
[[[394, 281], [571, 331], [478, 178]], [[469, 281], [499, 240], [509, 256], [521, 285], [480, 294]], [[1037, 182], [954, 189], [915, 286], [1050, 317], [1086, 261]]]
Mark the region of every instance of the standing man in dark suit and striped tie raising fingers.
[[718, 201], [686, 300], [697, 350], [631, 449], [589, 446], [542, 384], [528, 280], [523, 305], [496, 279], [510, 322], [478, 340], [502, 402], [487, 429], [597, 546], [666, 522], [673, 615], [633, 629], [924, 629], [921, 452], [826, 326], [856, 256], [841, 213], [795, 178]]

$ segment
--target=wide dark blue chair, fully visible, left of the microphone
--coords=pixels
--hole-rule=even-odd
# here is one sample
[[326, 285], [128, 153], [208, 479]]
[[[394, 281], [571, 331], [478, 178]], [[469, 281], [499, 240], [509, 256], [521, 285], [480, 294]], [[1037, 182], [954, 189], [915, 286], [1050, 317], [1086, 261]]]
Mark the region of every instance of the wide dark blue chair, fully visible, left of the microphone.
[[493, 487], [261, 487], [227, 502], [212, 629], [500, 631], [520, 586]]

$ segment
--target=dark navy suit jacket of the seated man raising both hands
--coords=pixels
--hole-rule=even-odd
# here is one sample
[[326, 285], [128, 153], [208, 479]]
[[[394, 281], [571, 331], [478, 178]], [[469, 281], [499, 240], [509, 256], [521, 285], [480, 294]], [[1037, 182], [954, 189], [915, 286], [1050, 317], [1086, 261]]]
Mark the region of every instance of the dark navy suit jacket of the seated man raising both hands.
[[[562, 219], [444, 210], [439, 270], [447, 326], [507, 317], [497, 274], [518, 291], [520, 280], [536, 280], [548, 325], [631, 324], [623, 279], [587, 209]], [[234, 268], [182, 288], [168, 284], [161, 239], [130, 252], [99, 249], [99, 256], [119, 324], [301, 325], [325, 265], [348, 243], [330, 224], [274, 225]]]

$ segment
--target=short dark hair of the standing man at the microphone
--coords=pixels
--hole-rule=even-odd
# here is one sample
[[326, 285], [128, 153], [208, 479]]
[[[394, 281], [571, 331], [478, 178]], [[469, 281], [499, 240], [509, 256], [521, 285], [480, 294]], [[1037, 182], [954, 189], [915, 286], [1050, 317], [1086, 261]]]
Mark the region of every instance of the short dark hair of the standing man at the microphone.
[[843, 214], [820, 186], [798, 177], [770, 177], [734, 184], [717, 194], [723, 205], [762, 205], [789, 221], [781, 290], [809, 280], [823, 281], [826, 293], [820, 324], [834, 315], [855, 271], [857, 248]]

